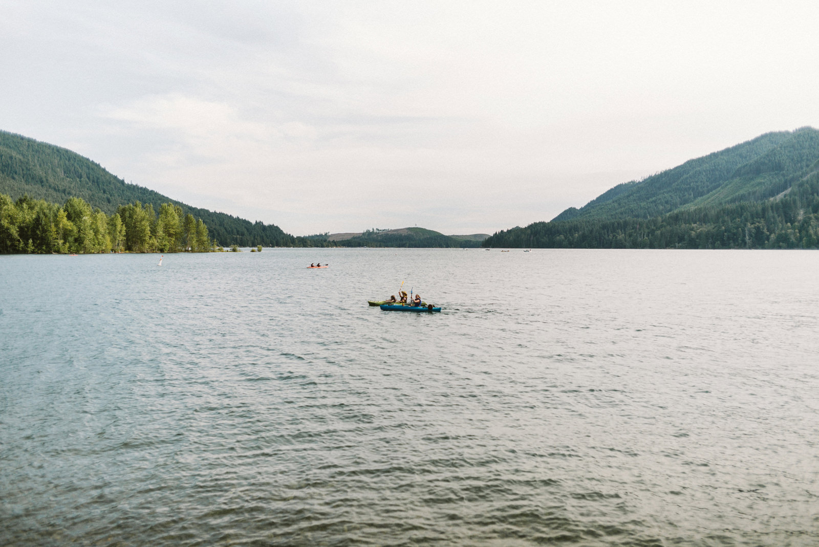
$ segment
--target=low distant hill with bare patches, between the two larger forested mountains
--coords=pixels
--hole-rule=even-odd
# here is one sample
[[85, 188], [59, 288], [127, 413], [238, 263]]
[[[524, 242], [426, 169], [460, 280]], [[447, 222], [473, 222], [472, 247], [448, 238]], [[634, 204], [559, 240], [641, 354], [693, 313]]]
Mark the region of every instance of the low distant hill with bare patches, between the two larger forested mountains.
[[[477, 238], [478, 236], [482, 236]], [[339, 246], [369, 247], [476, 247], [480, 246], [483, 234], [474, 236], [445, 236], [427, 228], [372, 229], [365, 232], [331, 233], [325, 236], [328, 242]]]

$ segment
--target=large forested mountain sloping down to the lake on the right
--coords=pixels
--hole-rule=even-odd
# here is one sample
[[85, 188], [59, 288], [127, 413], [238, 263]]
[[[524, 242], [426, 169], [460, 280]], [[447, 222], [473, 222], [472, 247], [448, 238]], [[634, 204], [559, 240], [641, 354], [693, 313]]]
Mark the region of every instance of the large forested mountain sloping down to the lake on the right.
[[816, 248], [819, 131], [766, 133], [620, 184], [486, 246]]

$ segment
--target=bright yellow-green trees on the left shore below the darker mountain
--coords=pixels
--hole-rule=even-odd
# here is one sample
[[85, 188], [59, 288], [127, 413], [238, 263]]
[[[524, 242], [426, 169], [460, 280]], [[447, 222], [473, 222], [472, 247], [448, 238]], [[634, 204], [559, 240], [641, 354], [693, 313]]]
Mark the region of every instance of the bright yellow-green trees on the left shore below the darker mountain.
[[[163, 210], [176, 214], [170, 203], [163, 204]], [[11, 197], [0, 194], [0, 253], [178, 251], [181, 232], [170, 228], [170, 217], [170, 213], [163, 217], [161, 212], [157, 220], [153, 207], [143, 208], [139, 201], [120, 206], [108, 216], [102, 210], [93, 210], [79, 197], [70, 197], [58, 206], [26, 195], [11, 201]], [[167, 232], [164, 226], [169, 228]], [[194, 241], [193, 251], [210, 251], [207, 228], [201, 219], [195, 224]]]

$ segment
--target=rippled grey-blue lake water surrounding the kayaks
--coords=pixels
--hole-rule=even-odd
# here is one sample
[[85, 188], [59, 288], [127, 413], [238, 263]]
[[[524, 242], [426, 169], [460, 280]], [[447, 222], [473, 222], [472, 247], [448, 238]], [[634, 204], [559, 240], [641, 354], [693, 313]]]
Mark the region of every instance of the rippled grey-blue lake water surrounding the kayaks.
[[819, 545], [817, 252], [157, 262], [0, 256], [0, 544]]

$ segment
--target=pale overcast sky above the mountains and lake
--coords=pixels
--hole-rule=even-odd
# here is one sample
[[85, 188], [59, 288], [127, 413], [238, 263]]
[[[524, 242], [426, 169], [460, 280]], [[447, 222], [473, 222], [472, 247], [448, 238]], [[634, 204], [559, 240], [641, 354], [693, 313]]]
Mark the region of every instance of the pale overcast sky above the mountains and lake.
[[819, 2], [0, 0], [0, 129], [288, 233], [493, 233], [819, 127]]

